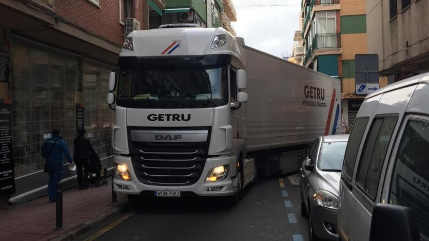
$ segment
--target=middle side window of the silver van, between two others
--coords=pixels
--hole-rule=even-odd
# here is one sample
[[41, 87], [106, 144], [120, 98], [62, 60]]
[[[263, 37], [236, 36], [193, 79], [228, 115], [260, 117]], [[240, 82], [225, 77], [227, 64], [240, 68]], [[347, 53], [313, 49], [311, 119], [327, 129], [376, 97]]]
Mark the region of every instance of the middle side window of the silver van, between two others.
[[381, 169], [397, 120], [397, 117], [374, 119], [362, 150], [357, 167], [356, 185], [372, 200], [375, 200], [377, 194]]

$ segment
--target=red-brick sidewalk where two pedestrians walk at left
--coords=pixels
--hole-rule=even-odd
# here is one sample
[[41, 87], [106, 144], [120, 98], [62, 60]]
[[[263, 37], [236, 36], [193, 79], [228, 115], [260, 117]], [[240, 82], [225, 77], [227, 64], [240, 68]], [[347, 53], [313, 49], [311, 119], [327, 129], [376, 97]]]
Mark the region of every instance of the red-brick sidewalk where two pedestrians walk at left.
[[[126, 205], [125, 195], [117, 195], [117, 203], [111, 203], [111, 188], [111, 180], [109, 180], [108, 185], [101, 187], [90, 187], [84, 190], [78, 190], [75, 187], [65, 190], [63, 192], [63, 229], [61, 230], [55, 230], [56, 204], [49, 203], [47, 197], [0, 208], [0, 240], [47, 241], [61, 234], [74, 233], [79, 230], [75, 227], [79, 225], [82, 227], [83, 223], [90, 220], [93, 222], [87, 224], [92, 228], [103, 222], [106, 214], [112, 214], [112, 211], [117, 213]], [[82, 231], [81, 227], [80, 231]]]

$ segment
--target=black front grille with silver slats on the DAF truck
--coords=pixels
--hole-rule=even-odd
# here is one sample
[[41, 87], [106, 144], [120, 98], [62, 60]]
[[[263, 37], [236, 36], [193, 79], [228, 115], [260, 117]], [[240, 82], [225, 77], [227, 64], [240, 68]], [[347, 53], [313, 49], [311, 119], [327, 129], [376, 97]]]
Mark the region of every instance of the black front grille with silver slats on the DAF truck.
[[[130, 140], [130, 153], [138, 180], [146, 185], [185, 186], [195, 184], [201, 177], [210, 140], [210, 127], [202, 128], [138, 128], [147, 132], [207, 130], [204, 142], [145, 142]], [[131, 136], [131, 135], [130, 135]], [[133, 139], [133, 138], [130, 138]], [[144, 139], [144, 138], [143, 138]]]

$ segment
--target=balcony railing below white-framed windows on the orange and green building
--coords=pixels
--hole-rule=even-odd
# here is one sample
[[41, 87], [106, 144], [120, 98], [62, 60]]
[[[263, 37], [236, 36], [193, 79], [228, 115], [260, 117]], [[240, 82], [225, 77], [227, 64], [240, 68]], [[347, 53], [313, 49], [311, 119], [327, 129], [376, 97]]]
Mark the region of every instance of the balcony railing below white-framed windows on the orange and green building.
[[304, 57], [304, 66], [312, 58], [314, 51], [338, 48], [341, 48], [341, 34], [316, 34], [313, 37], [312, 45], [309, 47], [307, 54]]

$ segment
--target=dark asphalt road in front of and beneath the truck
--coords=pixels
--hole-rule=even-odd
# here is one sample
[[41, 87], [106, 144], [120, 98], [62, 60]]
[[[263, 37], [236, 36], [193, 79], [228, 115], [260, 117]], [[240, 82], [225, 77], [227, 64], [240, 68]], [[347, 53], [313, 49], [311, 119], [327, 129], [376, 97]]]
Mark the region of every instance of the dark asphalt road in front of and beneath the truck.
[[307, 241], [308, 221], [300, 215], [299, 187], [284, 180], [259, 180], [235, 206], [212, 198], [150, 200], [78, 240]]

